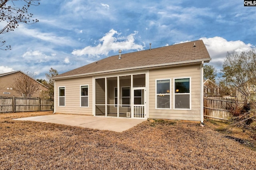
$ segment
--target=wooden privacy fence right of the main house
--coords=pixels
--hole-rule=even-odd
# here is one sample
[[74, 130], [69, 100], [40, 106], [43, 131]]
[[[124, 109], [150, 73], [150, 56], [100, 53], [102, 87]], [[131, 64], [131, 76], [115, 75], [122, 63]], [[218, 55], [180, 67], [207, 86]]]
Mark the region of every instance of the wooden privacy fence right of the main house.
[[230, 118], [230, 109], [243, 105], [233, 99], [204, 97], [204, 117], [216, 121], [227, 121]]

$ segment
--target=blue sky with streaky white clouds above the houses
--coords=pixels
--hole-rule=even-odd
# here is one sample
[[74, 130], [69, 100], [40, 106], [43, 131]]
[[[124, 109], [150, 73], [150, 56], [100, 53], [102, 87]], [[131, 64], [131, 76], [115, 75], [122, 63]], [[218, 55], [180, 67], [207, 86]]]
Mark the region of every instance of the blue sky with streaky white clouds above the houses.
[[[202, 39], [219, 71], [227, 51], [256, 45], [256, 7], [242, 0], [41, 0], [39, 20], [0, 35], [0, 73], [34, 72], [45, 79], [108, 56]], [[3, 23], [0, 23], [0, 26]]]

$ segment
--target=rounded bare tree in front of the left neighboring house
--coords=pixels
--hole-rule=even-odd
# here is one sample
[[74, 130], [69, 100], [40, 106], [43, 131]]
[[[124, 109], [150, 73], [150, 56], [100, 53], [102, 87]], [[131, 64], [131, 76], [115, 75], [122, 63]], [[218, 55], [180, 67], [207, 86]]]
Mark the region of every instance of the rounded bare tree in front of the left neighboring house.
[[[30, 75], [27, 76], [26, 74]], [[15, 90], [22, 97], [32, 97], [38, 91], [38, 83], [32, 78], [33, 73], [27, 72], [26, 74], [20, 73], [15, 79], [12, 89]]]

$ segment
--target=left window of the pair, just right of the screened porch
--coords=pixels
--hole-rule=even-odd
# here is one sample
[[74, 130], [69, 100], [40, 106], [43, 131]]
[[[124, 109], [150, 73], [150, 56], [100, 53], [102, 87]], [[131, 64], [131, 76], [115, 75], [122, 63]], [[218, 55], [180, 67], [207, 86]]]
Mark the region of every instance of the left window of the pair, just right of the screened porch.
[[170, 109], [170, 79], [156, 80], [156, 108]]

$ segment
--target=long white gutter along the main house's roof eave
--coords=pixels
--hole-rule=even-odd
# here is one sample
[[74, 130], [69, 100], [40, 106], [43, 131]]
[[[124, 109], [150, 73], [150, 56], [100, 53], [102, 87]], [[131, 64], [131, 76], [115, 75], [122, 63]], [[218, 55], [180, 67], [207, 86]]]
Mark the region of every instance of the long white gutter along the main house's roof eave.
[[[191, 60], [191, 61], [179, 61], [175, 63], [164, 63], [164, 64], [154, 64], [154, 65], [147, 65], [147, 66], [136, 66], [136, 67], [129, 67], [129, 68], [118, 68], [114, 70], [105, 70], [105, 71], [98, 71], [98, 72], [90, 72], [90, 73], [84, 73], [84, 74], [76, 74], [76, 75], [70, 75], [70, 76], [61, 76], [61, 77], [56, 77], [52, 78], [53, 80], [57, 79], [65, 79], [65, 78], [76, 78], [80, 76], [89, 76], [89, 75], [95, 75], [95, 74], [102, 74], [102, 73], [108, 73], [108, 72], [118, 72], [118, 71], [127, 71], [127, 70], [135, 70], [135, 69], [148, 69], [148, 68], [153, 68], [153, 67], [160, 67], [160, 66], [173, 66], [173, 65], [179, 65], [179, 64], [190, 64], [190, 63], [201, 63], [204, 61], [210, 61], [210, 59], [198, 59], [198, 60]], [[208, 63], [207, 62], [207, 63]]]

